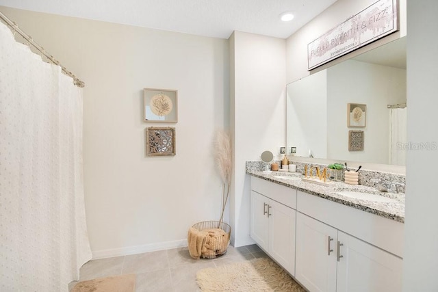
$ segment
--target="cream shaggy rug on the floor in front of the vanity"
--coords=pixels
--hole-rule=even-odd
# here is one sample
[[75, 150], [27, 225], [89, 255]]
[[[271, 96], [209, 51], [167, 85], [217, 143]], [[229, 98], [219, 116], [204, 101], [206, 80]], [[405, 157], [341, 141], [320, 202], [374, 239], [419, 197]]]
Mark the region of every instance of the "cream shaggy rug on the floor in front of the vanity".
[[305, 292], [294, 279], [270, 258], [201, 269], [196, 274], [201, 291], [289, 291]]

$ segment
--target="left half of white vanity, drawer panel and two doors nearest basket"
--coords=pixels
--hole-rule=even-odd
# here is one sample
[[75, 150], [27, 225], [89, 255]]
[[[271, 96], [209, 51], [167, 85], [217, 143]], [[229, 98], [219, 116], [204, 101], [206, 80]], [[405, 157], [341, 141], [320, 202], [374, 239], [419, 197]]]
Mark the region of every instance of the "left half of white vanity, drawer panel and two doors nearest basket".
[[251, 178], [250, 236], [295, 274], [296, 190]]

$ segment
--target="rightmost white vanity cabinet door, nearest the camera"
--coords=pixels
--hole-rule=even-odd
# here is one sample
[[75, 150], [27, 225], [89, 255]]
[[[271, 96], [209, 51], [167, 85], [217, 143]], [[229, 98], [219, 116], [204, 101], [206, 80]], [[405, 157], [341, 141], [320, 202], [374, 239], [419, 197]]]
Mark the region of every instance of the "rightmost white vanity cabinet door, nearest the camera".
[[337, 291], [402, 291], [402, 258], [339, 231]]

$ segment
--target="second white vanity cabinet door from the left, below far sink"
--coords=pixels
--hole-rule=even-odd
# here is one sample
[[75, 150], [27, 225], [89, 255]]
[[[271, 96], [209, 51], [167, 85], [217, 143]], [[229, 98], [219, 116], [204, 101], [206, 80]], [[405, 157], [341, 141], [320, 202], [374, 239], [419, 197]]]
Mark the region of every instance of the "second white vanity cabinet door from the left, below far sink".
[[269, 207], [269, 254], [295, 276], [296, 211], [274, 200]]

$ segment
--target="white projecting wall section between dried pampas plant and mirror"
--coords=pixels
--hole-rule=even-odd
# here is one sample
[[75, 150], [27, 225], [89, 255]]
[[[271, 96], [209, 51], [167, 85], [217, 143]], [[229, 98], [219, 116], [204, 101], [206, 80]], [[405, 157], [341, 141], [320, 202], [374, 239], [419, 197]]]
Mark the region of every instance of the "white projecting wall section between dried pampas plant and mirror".
[[230, 38], [231, 129], [234, 140], [234, 246], [250, 239], [250, 178], [245, 162], [270, 150], [279, 159], [285, 146], [285, 40], [235, 31]]

